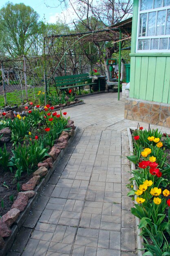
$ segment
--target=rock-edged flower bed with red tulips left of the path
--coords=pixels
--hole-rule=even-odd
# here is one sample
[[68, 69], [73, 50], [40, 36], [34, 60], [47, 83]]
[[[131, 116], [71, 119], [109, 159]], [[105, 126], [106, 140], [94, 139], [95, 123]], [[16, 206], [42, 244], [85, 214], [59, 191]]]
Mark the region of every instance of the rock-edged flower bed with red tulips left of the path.
[[[15, 226], [13, 223], [20, 212], [30, 204], [29, 198], [35, 197], [44, 186], [42, 179], [49, 179], [51, 170], [54, 170], [53, 164], [61, 159], [62, 149], [67, 147], [69, 137], [74, 135], [74, 122], [66, 117], [67, 112], [53, 112], [53, 106], [49, 105], [40, 111], [39, 107], [29, 110], [24, 117], [18, 114], [13, 120], [3, 119], [0, 124], [0, 142], [4, 144], [0, 148], [1, 180], [8, 177], [1, 188], [0, 248], [5, 246], [3, 238], [11, 235], [11, 228]], [[9, 180], [14, 181], [13, 191]], [[7, 196], [4, 197], [2, 192]], [[6, 214], [3, 211], [5, 207]]]

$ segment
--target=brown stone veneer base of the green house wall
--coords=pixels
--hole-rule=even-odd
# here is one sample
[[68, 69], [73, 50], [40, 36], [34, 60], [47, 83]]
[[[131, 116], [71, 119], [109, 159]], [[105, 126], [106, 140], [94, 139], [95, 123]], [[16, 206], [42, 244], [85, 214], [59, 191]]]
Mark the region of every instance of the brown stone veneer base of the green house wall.
[[127, 98], [124, 118], [170, 128], [170, 104]]

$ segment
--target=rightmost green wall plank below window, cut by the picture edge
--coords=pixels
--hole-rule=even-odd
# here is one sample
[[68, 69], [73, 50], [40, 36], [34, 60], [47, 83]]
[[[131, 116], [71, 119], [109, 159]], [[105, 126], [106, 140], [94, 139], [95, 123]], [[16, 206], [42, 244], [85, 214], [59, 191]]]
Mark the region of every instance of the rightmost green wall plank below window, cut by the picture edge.
[[163, 103], [167, 103], [167, 102], [170, 103], [168, 101], [169, 94], [170, 94], [170, 58], [166, 58], [163, 95], [162, 95]]

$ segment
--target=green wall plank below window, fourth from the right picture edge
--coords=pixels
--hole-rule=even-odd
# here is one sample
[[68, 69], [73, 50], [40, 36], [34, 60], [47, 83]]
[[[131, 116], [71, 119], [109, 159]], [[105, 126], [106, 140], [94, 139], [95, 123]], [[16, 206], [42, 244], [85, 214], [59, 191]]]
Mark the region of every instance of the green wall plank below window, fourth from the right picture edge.
[[141, 58], [141, 79], [139, 87], [139, 99], [146, 99], [147, 79], [148, 79], [148, 56]]

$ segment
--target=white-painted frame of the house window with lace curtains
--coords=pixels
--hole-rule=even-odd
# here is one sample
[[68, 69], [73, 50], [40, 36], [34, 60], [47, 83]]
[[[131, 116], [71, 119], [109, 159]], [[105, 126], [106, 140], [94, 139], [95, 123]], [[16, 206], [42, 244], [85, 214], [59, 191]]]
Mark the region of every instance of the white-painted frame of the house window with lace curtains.
[[[153, 5], [154, 6], [154, 0], [153, 1]], [[162, 1], [163, 2], [163, 1]], [[147, 9], [147, 10], [142, 10], [140, 11], [140, 7], [141, 7], [141, 0], [139, 0], [139, 9], [138, 9], [138, 21], [137, 21], [137, 41], [136, 41], [136, 52], [137, 53], [145, 53], [145, 52], [168, 52], [170, 53], [170, 49], [168, 49], [168, 47], [170, 46], [170, 34], [168, 35], [158, 35], [158, 36], [139, 36], [139, 27], [140, 27], [140, 14], [142, 13], [146, 13], [147, 14], [147, 20], [146, 20], [146, 31], [148, 31], [148, 15], [150, 12], [154, 12], [156, 11], [158, 13], [158, 11], [164, 11], [166, 10], [166, 20], [165, 20], [165, 28], [164, 28], [164, 33], [165, 33], [165, 29], [166, 29], [166, 21], [167, 21], [167, 13], [168, 13], [168, 9], [170, 9], [170, 5], [166, 6], [166, 7], [159, 7], [159, 8], [155, 8], [155, 9]], [[156, 13], [156, 25], [157, 25], [157, 13]], [[151, 47], [151, 39], [159, 39], [159, 43], [160, 43], [160, 39], [161, 38], [168, 38], [168, 46], [167, 49], [148, 49], [148, 50], [139, 50], [138, 49], [138, 43], [139, 40], [141, 39], [149, 39], [150, 43], [149, 43], [149, 48]], [[158, 44], [158, 48], [159, 48], [159, 44]]]

